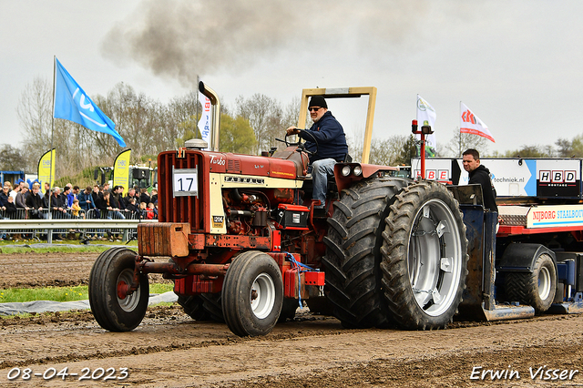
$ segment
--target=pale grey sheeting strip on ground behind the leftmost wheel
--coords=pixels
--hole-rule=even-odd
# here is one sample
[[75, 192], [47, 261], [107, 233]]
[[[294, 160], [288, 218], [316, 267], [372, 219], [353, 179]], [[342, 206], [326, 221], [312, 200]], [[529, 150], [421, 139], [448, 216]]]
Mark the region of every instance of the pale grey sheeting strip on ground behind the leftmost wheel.
[[[178, 296], [173, 292], [150, 294], [148, 305], [163, 301], [177, 301]], [[89, 301], [25, 301], [0, 303], [0, 315], [16, 315], [31, 312], [87, 310]]]

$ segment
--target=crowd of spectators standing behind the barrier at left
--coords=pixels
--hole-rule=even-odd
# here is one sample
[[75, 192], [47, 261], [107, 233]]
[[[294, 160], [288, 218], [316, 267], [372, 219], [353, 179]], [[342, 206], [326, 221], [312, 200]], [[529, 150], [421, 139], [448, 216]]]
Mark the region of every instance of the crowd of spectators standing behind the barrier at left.
[[[38, 181], [31, 187], [22, 179], [14, 187], [5, 181], [0, 193], [0, 220], [158, 220], [157, 189], [151, 189], [151, 195], [148, 189], [138, 187], [129, 188], [125, 196], [124, 191], [123, 186], [109, 188], [108, 183], [84, 190], [70, 183], [63, 189], [45, 183], [41, 190]], [[0, 240], [5, 238], [0, 230]]]

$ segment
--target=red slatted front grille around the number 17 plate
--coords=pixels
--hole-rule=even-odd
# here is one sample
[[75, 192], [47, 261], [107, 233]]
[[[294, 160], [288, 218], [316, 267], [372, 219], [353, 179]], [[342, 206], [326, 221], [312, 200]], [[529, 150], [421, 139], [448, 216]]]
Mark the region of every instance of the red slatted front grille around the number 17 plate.
[[[178, 158], [176, 151], [162, 152], [158, 156], [158, 218], [159, 222], [188, 222], [191, 232], [204, 231], [204, 195], [206, 179], [202, 157], [196, 151], [185, 151]], [[172, 192], [172, 167], [199, 168], [199, 197], [174, 197]]]

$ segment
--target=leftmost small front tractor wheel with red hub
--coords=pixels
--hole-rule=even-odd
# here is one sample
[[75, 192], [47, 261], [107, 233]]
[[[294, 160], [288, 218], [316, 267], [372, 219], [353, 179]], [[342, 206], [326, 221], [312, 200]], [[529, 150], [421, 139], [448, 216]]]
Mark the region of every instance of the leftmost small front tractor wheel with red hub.
[[136, 252], [112, 248], [101, 253], [89, 274], [89, 305], [99, 325], [109, 332], [135, 329], [148, 309], [148, 275], [139, 275], [138, 290], [126, 294], [134, 281]]

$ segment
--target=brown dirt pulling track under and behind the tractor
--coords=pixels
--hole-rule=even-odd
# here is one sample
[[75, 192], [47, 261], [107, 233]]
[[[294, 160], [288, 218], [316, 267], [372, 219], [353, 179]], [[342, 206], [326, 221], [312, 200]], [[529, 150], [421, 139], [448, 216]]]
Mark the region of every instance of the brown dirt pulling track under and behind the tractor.
[[[33, 261], [37, 275], [29, 286], [79, 284], [87, 281], [96, 257], [0, 255], [0, 287], [25, 284], [31, 271], [26, 263]], [[148, 310], [138, 329], [126, 333], [105, 332], [88, 311], [40, 314], [0, 321], [0, 386], [538, 387], [551, 382], [540, 380], [539, 374], [531, 379], [529, 368], [536, 373], [545, 365], [573, 371], [571, 380], [553, 386], [583, 386], [581, 332], [579, 316], [402, 332], [344, 330], [333, 318], [298, 314], [296, 321], [279, 324], [266, 337], [240, 339], [226, 325], [193, 322], [175, 306]], [[42, 376], [66, 367], [67, 373], [79, 375], [65, 381]], [[14, 368], [20, 376], [9, 380], [10, 371], [17, 373]], [[26, 368], [40, 375], [25, 381]], [[114, 368], [108, 372], [112, 376], [128, 368], [129, 375], [79, 381], [83, 368], [95, 376], [101, 373], [98, 368]], [[491, 374], [484, 381], [470, 378], [473, 372], [481, 377], [484, 370], [508, 370], [513, 379], [492, 381]]]

